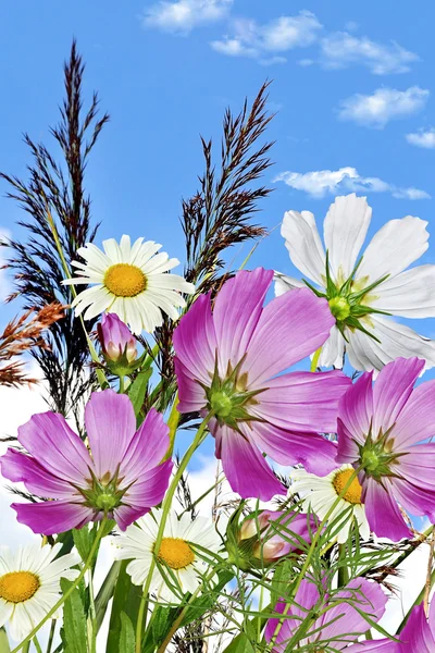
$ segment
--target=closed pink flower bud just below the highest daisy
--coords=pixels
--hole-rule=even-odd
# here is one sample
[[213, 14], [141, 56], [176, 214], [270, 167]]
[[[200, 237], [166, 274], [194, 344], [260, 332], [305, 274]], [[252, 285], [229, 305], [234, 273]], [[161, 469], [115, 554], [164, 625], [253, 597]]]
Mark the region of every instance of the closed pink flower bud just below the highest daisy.
[[108, 364], [129, 366], [137, 358], [136, 338], [114, 313], [102, 313], [98, 325], [102, 353]]

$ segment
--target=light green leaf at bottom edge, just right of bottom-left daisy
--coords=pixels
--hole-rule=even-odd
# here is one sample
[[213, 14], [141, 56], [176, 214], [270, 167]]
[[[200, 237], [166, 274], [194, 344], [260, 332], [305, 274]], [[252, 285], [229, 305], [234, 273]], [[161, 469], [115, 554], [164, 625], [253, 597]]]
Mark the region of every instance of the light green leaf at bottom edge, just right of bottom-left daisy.
[[[61, 589], [64, 594], [72, 584], [66, 578], [61, 578]], [[78, 588], [63, 605], [62, 640], [69, 653], [86, 653], [88, 650], [86, 614]]]

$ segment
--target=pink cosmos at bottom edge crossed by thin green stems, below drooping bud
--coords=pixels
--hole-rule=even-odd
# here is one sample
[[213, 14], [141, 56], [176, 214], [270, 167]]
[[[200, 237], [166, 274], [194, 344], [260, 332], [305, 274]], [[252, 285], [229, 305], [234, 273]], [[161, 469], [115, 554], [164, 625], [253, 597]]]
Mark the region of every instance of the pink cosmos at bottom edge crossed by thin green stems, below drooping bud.
[[[355, 578], [346, 588], [337, 591], [331, 597], [332, 603], [337, 601], [340, 601], [340, 603], [331, 607], [312, 623], [307, 636], [299, 642], [299, 645], [319, 644], [320, 651], [325, 649], [328, 651], [346, 651], [347, 653], [359, 653], [360, 651], [371, 653], [372, 651], [382, 650], [387, 653], [386, 648], [376, 648], [376, 642], [356, 643], [359, 637], [370, 628], [369, 623], [361, 613], [370, 616], [372, 620], [378, 621], [385, 612], [387, 597], [381, 587], [364, 578]], [[307, 579], [302, 580], [295, 596], [295, 604], [286, 612], [286, 618], [283, 620], [283, 625], [274, 640], [275, 644], [272, 651], [274, 653], [285, 653], [287, 644], [307, 618], [308, 612], [313, 608], [323, 609], [327, 607], [328, 602], [327, 595], [321, 599], [319, 589], [313, 582]], [[279, 601], [275, 605], [275, 612], [283, 614], [285, 605], [285, 602]], [[274, 638], [278, 624], [279, 618], [269, 619], [264, 630], [264, 638], [268, 642]], [[385, 646], [384, 640], [381, 643]], [[313, 650], [316, 651], [318, 649]], [[389, 653], [393, 650], [390, 649]]]

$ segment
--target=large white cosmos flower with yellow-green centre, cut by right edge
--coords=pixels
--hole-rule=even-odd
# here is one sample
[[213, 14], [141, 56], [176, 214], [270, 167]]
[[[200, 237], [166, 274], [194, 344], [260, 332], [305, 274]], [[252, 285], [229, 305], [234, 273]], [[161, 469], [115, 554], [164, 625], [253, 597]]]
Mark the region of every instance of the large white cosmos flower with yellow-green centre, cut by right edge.
[[[373, 236], [361, 258], [371, 217], [365, 197], [355, 194], [337, 197], [331, 205], [323, 224], [331, 275], [327, 287], [326, 255], [314, 215], [309, 211], [284, 215], [281, 233], [293, 263], [316, 292], [326, 295], [336, 318], [319, 364], [343, 367], [346, 349], [357, 370], [378, 371], [395, 358], [413, 356], [425, 359], [426, 369], [432, 368], [435, 342], [389, 317], [435, 317], [435, 266], [407, 270], [427, 249], [427, 222], [412, 215], [390, 220]], [[275, 279], [276, 295], [304, 286], [302, 281], [281, 273]], [[349, 283], [343, 288], [346, 281]], [[334, 297], [341, 288], [340, 296]], [[360, 328], [355, 326], [355, 320]]]

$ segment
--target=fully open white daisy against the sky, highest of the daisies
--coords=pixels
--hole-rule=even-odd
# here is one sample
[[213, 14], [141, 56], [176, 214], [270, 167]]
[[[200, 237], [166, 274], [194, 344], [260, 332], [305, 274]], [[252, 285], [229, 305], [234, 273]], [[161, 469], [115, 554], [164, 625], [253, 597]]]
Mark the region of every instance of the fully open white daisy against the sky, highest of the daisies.
[[63, 283], [95, 285], [74, 299], [76, 316], [85, 311], [85, 319], [90, 320], [110, 311], [137, 334], [161, 326], [163, 313], [178, 319], [177, 309], [186, 306], [181, 293], [191, 295], [195, 286], [183, 276], [169, 273], [179, 264], [177, 259], [170, 259], [162, 251], [157, 254], [161, 245], [142, 241], [138, 238], [132, 245], [129, 236], [124, 235], [120, 244], [114, 238], [103, 241], [104, 251], [92, 243], [77, 249], [86, 263], [73, 261], [79, 276]]

